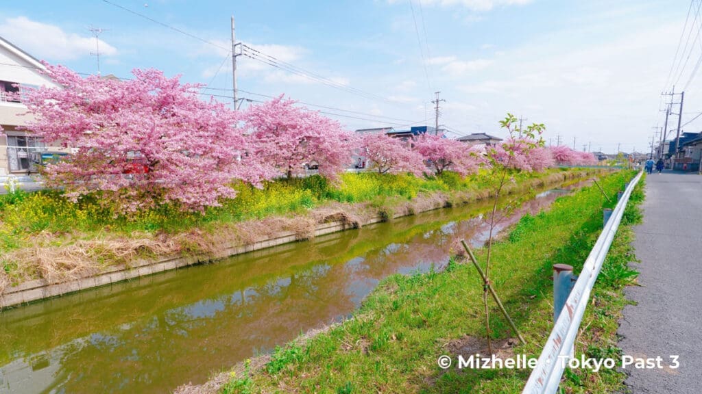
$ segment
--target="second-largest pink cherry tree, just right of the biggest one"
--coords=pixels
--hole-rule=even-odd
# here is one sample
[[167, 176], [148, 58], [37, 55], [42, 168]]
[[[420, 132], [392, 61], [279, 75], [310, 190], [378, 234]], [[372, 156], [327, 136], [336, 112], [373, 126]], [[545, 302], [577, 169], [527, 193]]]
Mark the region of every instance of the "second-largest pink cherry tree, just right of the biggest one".
[[282, 95], [249, 107], [242, 118], [251, 133], [252, 154], [280, 175], [292, 177], [303, 174], [305, 165], [318, 165], [320, 175], [335, 180], [352, 161], [355, 135]]

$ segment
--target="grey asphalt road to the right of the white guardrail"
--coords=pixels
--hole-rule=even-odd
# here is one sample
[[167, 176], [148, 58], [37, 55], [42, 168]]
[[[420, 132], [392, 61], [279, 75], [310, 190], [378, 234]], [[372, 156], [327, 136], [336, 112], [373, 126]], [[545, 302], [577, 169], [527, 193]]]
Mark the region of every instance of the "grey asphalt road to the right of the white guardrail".
[[[625, 293], [618, 334], [624, 355], [661, 356], [663, 369], [631, 369], [633, 393], [702, 393], [702, 175], [649, 175], [635, 228], [640, 286]], [[678, 355], [677, 369], [671, 355]]]

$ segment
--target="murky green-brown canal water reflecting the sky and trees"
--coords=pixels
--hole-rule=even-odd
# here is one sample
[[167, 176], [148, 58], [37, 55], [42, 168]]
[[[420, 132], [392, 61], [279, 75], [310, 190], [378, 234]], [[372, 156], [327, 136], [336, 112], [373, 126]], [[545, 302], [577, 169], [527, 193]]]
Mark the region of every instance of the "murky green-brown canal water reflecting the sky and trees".
[[[538, 192], [538, 191], [537, 191]], [[541, 191], [501, 227], [567, 191]], [[486, 204], [425, 212], [0, 313], [0, 393], [170, 393], [350, 315], [393, 273], [486, 240]]]

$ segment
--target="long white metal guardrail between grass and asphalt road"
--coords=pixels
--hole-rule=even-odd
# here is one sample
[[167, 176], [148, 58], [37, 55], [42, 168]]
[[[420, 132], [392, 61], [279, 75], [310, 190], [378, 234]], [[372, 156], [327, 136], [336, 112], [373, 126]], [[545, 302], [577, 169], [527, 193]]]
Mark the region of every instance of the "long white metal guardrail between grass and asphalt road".
[[522, 390], [523, 394], [551, 394], [557, 392], [564, 365], [567, 365], [567, 362], [562, 362], [562, 360], [569, 360], [573, 356], [571, 352], [580, 323], [583, 320], [585, 307], [588, 306], [590, 291], [592, 291], [592, 286], [595, 285], [595, 280], [597, 280], [597, 275], [602, 269], [604, 258], [607, 257], [609, 247], [612, 240], [614, 240], [614, 235], [621, 222], [629, 196], [639, 179], [641, 179], [642, 173], [639, 172], [629, 183], [616, 208], [612, 211], [607, 224], [602, 229], [600, 237], [597, 238], [595, 246], [592, 247], [592, 251], [583, 265], [583, 271], [578, 276], [578, 280], [553, 326], [548, 341], [538, 357], [536, 367], [531, 371], [527, 385]]

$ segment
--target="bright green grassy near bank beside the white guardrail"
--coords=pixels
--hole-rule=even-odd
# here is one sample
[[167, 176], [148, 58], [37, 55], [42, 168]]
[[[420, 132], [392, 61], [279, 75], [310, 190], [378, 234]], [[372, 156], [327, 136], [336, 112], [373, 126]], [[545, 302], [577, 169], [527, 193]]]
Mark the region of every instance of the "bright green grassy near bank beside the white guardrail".
[[[611, 196], [631, 176], [631, 172], [611, 175], [602, 185]], [[640, 193], [633, 197], [637, 199]], [[603, 203], [595, 187], [560, 198], [550, 211], [522, 219], [494, 247], [494, 283], [528, 342], [512, 349], [515, 354], [540, 353], [551, 328], [551, 266], [567, 263], [578, 271], [602, 227]], [[635, 215], [628, 212], [627, 217]], [[630, 231], [623, 229], [608, 264], [621, 265], [631, 258], [628, 240]], [[479, 251], [479, 259], [482, 254]], [[583, 327], [588, 329], [578, 341], [578, 353], [583, 348], [590, 355], [616, 351], [616, 316], [623, 306], [616, 288], [631, 276], [611, 270], [603, 271], [608, 279], [601, 280], [593, 293], [595, 304], [585, 315]], [[484, 336], [481, 297], [477, 272], [466, 264], [451, 264], [444, 273], [391, 276], [364, 301], [355, 319], [305, 346], [278, 349], [264, 372], [234, 377], [223, 392], [517, 393], [527, 370], [444, 372], [437, 367], [439, 355], [468, 355], [461, 346]], [[496, 310], [491, 313], [491, 327], [496, 339], [512, 336]], [[472, 351], [481, 348], [477, 340]], [[604, 393], [622, 380], [616, 372], [591, 375], [567, 372], [567, 391]]]

